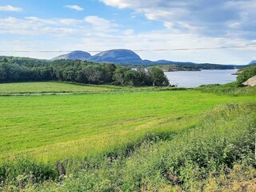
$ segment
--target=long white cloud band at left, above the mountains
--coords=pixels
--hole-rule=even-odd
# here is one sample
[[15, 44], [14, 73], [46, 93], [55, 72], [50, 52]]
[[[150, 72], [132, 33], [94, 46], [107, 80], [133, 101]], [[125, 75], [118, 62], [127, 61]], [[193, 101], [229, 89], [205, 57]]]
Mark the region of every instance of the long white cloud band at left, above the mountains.
[[1, 18], [0, 34], [46, 35], [81, 38], [88, 35], [112, 33], [118, 25], [105, 18], [88, 16], [83, 20], [74, 18]]

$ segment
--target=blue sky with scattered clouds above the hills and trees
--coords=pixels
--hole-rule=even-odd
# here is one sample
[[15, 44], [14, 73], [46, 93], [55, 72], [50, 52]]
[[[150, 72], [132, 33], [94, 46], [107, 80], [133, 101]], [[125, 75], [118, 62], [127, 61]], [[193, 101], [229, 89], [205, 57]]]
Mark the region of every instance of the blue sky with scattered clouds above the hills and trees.
[[129, 49], [153, 61], [247, 64], [256, 59], [255, 10], [256, 0], [0, 0], [0, 55]]

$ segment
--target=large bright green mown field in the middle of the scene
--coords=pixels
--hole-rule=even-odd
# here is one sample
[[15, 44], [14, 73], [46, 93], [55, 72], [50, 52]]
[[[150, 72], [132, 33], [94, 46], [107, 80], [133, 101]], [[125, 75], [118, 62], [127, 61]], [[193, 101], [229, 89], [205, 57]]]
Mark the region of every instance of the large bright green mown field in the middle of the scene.
[[214, 106], [255, 100], [196, 90], [2, 97], [0, 158], [55, 161], [106, 153], [148, 133], [194, 126]]

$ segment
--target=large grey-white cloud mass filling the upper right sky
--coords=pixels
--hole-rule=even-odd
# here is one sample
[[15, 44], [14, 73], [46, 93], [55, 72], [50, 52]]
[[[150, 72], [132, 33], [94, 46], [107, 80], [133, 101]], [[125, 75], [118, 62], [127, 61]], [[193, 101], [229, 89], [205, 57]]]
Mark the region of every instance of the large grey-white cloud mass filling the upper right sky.
[[[166, 28], [180, 32], [220, 37], [250, 33], [255, 37], [255, 0], [99, 0], [107, 6], [133, 9], [149, 20], [160, 21]], [[241, 25], [242, 24], [242, 25]], [[247, 38], [249, 35], [244, 36]]]

